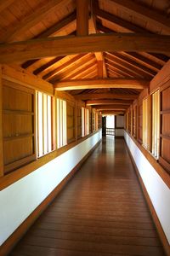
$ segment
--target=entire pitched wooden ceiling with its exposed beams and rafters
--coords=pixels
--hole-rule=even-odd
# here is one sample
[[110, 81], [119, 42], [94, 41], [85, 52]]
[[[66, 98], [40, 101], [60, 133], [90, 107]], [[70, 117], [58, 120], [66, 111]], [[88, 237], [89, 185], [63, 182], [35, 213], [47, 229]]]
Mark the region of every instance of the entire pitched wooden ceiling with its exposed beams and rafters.
[[170, 56], [169, 0], [5, 0], [0, 62], [123, 113]]

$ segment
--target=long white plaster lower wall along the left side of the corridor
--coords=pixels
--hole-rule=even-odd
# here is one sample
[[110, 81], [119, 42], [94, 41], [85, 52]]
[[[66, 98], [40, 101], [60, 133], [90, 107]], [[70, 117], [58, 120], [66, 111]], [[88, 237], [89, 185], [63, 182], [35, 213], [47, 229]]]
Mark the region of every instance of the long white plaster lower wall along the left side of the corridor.
[[0, 192], [0, 245], [99, 142], [101, 131]]

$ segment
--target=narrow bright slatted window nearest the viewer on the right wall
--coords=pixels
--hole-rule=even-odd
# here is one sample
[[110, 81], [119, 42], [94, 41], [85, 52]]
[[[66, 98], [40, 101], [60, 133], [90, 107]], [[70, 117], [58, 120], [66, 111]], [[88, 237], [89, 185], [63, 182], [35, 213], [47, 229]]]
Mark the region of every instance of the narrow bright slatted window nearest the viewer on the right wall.
[[159, 136], [160, 136], [160, 92], [156, 90], [152, 94], [152, 149], [151, 153], [159, 156]]

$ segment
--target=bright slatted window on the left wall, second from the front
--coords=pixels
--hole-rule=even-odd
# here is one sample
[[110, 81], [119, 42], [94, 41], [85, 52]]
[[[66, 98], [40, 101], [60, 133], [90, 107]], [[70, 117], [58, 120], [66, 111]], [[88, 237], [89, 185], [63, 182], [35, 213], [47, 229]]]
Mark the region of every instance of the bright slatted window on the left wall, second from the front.
[[65, 146], [66, 143], [66, 102], [57, 99], [57, 148]]

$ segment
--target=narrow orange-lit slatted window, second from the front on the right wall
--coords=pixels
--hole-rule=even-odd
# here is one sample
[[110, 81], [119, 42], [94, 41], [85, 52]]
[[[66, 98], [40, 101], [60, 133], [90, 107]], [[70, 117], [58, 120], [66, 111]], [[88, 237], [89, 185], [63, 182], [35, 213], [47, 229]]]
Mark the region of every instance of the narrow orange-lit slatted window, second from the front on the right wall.
[[143, 101], [143, 146], [148, 148], [148, 99]]

